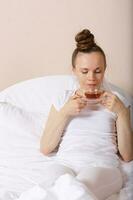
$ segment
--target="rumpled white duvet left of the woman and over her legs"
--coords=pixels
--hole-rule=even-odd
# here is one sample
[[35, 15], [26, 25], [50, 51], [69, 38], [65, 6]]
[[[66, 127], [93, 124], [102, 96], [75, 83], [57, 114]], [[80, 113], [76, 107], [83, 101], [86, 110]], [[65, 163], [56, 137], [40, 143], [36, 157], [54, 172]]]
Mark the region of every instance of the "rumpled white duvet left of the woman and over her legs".
[[[43, 189], [43, 172], [54, 155], [39, 151], [42, 114], [0, 103], [0, 200], [95, 200], [72, 176], [61, 176], [49, 191]], [[122, 163], [125, 185], [108, 200], [133, 200], [133, 162]]]

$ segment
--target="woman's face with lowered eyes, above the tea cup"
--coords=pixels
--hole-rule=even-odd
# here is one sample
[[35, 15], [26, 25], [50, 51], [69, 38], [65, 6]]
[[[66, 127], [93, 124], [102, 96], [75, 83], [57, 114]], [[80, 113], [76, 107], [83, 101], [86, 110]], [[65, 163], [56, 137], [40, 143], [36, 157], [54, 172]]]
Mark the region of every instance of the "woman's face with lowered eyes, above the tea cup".
[[73, 72], [78, 78], [81, 89], [87, 91], [99, 88], [105, 72], [103, 55], [100, 52], [78, 53]]

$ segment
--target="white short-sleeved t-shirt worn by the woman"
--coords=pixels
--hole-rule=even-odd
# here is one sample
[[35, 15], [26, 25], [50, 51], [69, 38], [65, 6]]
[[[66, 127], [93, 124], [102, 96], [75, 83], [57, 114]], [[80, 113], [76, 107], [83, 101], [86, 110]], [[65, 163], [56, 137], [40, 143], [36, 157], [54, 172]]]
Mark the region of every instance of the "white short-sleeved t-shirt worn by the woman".
[[[74, 92], [66, 90], [55, 97], [55, 108], [59, 111]], [[129, 106], [124, 97], [116, 94]], [[70, 167], [118, 167], [116, 119], [117, 115], [101, 104], [88, 104], [65, 128], [57, 159]]]

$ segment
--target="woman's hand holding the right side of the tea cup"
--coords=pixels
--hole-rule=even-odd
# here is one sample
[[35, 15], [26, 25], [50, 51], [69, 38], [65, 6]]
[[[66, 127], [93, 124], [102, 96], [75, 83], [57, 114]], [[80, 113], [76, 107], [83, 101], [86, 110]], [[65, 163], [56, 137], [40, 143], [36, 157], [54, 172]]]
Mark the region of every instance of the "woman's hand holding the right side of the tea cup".
[[117, 115], [126, 109], [123, 102], [111, 92], [104, 92], [100, 98], [101, 104]]

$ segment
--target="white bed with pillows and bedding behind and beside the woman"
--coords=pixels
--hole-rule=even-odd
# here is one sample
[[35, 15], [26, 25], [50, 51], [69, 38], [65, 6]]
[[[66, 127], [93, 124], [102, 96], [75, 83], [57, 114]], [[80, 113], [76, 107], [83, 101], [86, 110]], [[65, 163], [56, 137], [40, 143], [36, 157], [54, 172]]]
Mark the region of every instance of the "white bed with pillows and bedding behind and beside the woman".
[[[131, 96], [105, 83], [133, 104]], [[47, 157], [40, 153], [40, 136], [53, 96], [60, 90], [75, 88], [74, 76], [55, 75], [24, 81], [0, 93], [0, 200], [43, 200], [44, 191], [39, 183], [43, 181], [45, 167], [54, 162], [54, 154]], [[122, 169], [125, 184], [119, 194], [108, 200], [133, 200], [133, 162], [122, 162]], [[67, 200], [65, 196], [60, 199]], [[71, 196], [69, 199], [85, 200]]]

